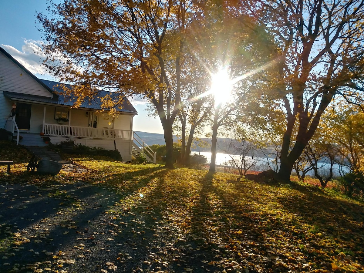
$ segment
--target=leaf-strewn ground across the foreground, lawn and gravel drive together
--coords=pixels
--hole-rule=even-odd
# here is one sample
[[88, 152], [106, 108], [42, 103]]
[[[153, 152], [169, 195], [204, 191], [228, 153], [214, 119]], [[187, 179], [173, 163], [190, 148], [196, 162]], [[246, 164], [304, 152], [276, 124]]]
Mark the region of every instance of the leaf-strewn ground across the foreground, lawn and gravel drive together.
[[106, 158], [40, 176], [1, 145], [0, 272], [364, 272], [359, 201]]

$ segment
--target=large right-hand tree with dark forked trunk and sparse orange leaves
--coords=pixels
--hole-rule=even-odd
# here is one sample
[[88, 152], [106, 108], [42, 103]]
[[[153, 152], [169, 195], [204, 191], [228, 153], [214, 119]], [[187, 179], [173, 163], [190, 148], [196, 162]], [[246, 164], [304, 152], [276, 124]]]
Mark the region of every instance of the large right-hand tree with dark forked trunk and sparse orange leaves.
[[332, 99], [342, 96], [349, 103], [363, 99], [364, 2], [252, 3], [251, 14], [277, 44], [276, 74], [267, 81], [286, 112], [279, 173], [288, 180], [293, 163], [313, 137]]

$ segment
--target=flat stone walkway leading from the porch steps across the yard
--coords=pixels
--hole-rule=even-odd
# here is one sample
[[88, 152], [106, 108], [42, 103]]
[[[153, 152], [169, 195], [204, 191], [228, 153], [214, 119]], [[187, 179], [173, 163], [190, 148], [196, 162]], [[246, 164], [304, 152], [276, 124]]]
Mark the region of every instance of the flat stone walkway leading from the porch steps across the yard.
[[67, 171], [69, 173], [86, 173], [88, 172], [86, 169], [81, 169], [76, 165], [70, 164], [68, 161], [64, 161], [60, 155], [54, 151], [51, 151], [47, 146], [39, 147], [39, 146], [25, 146], [32, 154], [37, 155], [40, 159], [50, 159], [61, 163], [62, 170]]

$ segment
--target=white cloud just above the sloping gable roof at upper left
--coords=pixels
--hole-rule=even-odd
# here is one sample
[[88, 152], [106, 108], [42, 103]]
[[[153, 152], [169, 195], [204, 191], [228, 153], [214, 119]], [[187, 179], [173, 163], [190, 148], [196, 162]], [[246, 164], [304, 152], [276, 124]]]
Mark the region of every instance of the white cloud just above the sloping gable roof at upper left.
[[45, 68], [41, 66], [41, 63], [46, 56], [41, 54], [38, 49], [40, 43], [41, 41], [25, 39], [24, 45], [21, 46], [21, 51], [17, 50], [15, 47], [4, 44], [2, 44], [1, 47], [33, 74], [49, 75], [46, 73]]

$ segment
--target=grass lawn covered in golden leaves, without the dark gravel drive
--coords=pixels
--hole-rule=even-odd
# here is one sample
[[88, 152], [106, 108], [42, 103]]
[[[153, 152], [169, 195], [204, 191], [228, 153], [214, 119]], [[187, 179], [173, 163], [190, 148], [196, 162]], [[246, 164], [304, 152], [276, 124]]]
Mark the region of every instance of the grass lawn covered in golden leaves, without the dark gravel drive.
[[[313, 191], [304, 184], [273, 187], [231, 174], [169, 170], [102, 157], [73, 157], [72, 162], [88, 172], [37, 176], [24, 173], [24, 166], [18, 164], [12, 175], [0, 174], [0, 178], [36, 185], [82, 182], [111, 189], [119, 198], [105, 213], [116, 218], [150, 215], [145, 225], [156, 230], [155, 236], [161, 230], [163, 240], [179, 242], [179, 256], [201, 254], [207, 262], [199, 259], [198, 263], [209, 270], [226, 261], [243, 270], [279, 269], [283, 265], [278, 261], [285, 264], [281, 270], [308, 264], [311, 271], [357, 272], [363, 266], [364, 215], [359, 201]], [[64, 194], [54, 191], [49, 196]], [[174, 257], [164, 259], [173, 264]]]

